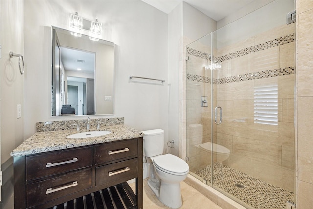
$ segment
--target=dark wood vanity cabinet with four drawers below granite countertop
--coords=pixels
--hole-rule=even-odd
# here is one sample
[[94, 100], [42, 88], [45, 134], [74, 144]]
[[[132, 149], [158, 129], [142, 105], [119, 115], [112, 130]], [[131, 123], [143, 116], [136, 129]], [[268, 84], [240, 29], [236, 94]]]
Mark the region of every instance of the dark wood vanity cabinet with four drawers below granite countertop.
[[[125, 183], [134, 178], [135, 195]], [[142, 137], [14, 157], [14, 182], [15, 209], [46, 209], [111, 186], [128, 186], [121, 191], [142, 209]]]

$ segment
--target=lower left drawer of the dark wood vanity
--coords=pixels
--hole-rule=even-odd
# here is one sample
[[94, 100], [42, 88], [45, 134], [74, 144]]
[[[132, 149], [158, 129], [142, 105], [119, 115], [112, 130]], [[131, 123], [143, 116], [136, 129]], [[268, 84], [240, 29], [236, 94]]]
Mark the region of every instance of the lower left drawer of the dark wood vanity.
[[40, 205], [50, 200], [75, 193], [92, 186], [92, 170], [85, 169], [78, 172], [60, 175], [27, 185], [27, 207]]

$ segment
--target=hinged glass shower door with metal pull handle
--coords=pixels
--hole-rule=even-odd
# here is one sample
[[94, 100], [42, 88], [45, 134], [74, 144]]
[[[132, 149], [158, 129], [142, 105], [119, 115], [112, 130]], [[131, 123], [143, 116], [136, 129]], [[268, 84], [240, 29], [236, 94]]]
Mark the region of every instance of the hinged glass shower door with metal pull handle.
[[213, 187], [247, 208], [294, 202], [295, 23], [259, 19], [280, 3], [212, 33]]

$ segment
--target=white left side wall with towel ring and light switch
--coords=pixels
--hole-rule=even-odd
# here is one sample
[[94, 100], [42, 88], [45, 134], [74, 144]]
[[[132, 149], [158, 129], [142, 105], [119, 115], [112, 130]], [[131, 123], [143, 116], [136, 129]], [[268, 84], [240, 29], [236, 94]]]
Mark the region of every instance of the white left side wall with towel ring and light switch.
[[[0, 59], [1, 86], [1, 167], [3, 171], [1, 209], [13, 209], [13, 160], [10, 152], [20, 145], [24, 137], [24, 77], [20, 74], [18, 57], [9, 52], [24, 54], [23, 1], [0, 1]], [[27, 59], [27, 57], [25, 57]], [[21, 104], [22, 117], [17, 119], [17, 104]]]

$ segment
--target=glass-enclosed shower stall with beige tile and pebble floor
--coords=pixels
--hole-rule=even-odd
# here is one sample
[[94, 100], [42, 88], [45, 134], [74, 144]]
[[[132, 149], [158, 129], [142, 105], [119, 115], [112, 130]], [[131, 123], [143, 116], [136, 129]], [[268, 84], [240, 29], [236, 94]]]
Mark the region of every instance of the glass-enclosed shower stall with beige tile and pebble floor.
[[190, 174], [247, 208], [295, 199], [294, 5], [272, 1], [186, 46]]

